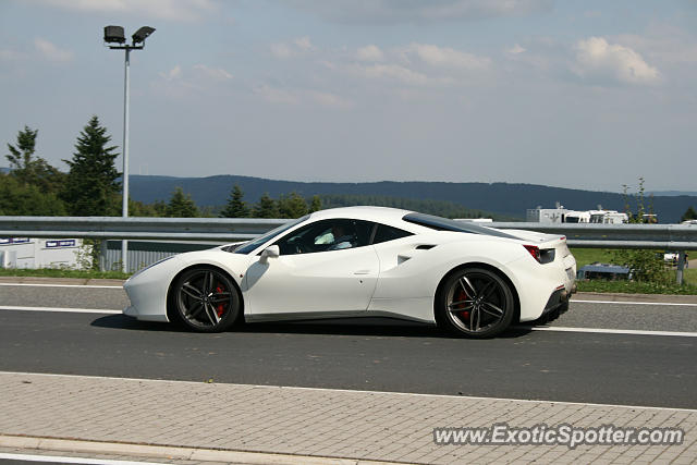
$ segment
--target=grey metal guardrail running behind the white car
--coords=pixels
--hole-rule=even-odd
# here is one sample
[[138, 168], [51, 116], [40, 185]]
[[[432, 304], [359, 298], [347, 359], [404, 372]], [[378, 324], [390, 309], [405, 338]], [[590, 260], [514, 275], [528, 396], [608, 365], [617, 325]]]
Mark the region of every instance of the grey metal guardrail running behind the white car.
[[[250, 218], [0, 217], [0, 237], [227, 243], [254, 238], [288, 221]], [[678, 250], [678, 282], [682, 282], [685, 250], [697, 250], [697, 225], [694, 224], [493, 222], [482, 225], [561, 234], [566, 236], [572, 247]]]

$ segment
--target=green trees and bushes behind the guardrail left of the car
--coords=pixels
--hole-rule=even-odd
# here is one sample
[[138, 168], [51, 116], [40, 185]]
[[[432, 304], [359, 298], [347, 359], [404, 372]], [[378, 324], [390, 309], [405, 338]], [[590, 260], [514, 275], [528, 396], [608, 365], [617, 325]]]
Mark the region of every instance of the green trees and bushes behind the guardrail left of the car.
[[[8, 144], [5, 159], [9, 173], [0, 173], [0, 215], [2, 216], [120, 216], [122, 209], [121, 175], [114, 160], [120, 155], [111, 146], [99, 118], [89, 119], [75, 143], [71, 159], [63, 159], [69, 171], [61, 172], [36, 154], [38, 130], [24, 126], [15, 144]], [[223, 217], [223, 218], [297, 218], [321, 209], [318, 196], [305, 199], [293, 192], [278, 199], [265, 194], [256, 204], [244, 200], [235, 185], [227, 205], [199, 208], [189, 194], [175, 188], [169, 201], [152, 204], [129, 199], [133, 217]]]

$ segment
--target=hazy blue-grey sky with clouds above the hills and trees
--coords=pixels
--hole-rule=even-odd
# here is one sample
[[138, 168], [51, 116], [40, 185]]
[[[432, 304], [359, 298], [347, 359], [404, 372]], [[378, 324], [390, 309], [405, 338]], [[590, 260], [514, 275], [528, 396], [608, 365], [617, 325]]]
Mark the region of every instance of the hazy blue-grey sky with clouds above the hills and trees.
[[0, 0], [2, 155], [121, 147], [106, 25], [131, 174], [697, 191], [695, 0]]

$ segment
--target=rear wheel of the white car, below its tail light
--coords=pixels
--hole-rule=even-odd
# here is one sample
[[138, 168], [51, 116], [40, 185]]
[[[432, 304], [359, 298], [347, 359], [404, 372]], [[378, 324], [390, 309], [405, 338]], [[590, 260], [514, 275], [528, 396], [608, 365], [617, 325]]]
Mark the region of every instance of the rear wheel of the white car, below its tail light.
[[436, 320], [453, 335], [491, 338], [505, 330], [515, 314], [510, 284], [486, 268], [462, 268], [444, 281]]

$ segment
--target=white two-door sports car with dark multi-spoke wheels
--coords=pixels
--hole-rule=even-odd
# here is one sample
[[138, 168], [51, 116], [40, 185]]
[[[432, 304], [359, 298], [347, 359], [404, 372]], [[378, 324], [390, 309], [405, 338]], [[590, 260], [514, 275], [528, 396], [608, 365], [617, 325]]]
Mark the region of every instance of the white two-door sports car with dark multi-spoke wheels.
[[347, 207], [161, 260], [125, 282], [124, 314], [204, 332], [241, 319], [381, 316], [485, 338], [558, 317], [575, 276], [563, 236]]

